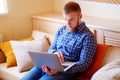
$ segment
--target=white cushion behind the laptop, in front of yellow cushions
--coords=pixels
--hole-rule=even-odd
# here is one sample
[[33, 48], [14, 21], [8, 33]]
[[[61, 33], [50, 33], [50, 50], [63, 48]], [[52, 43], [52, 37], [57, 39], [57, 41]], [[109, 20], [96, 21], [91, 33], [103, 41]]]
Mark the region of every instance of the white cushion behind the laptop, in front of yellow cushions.
[[33, 41], [10, 41], [13, 52], [17, 60], [19, 72], [29, 70], [33, 67], [33, 62], [28, 54], [28, 51], [47, 52], [49, 45], [46, 37], [39, 36], [39, 40]]

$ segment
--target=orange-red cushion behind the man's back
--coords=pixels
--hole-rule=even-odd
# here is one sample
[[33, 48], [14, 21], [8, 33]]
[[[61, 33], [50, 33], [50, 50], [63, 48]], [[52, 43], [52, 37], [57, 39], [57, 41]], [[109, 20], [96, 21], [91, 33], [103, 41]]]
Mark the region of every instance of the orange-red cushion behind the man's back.
[[109, 46], [98, 44], [96, 54], [91, 67], [85, 71], [87, 77], [91, 77], [98, 69], [102, 67], [103, 58], [108, 50]]

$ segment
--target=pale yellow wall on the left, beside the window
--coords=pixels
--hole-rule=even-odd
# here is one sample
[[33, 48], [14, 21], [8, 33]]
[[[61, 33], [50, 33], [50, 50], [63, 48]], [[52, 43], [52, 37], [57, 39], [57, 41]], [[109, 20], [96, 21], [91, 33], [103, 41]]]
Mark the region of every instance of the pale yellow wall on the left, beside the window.
[[30, 36], [35, 13], [53, 11], [53, 0], [7, 0], [8, 15], [0, 16], [0, 33], [4, 41]]

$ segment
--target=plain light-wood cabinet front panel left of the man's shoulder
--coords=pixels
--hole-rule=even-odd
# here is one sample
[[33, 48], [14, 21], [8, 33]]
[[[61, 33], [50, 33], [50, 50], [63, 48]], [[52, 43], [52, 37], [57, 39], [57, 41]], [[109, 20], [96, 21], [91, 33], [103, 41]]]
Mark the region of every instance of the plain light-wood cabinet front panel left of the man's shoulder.
[[40, 30], [43, 32], [47, 32], [50, 34], [55, 34], [59, 27], [63, 26], [63, 23], [49, 21], [49, 20], [41, 20], [41, 19], [33, 19], [33, 28], [34, 30]]

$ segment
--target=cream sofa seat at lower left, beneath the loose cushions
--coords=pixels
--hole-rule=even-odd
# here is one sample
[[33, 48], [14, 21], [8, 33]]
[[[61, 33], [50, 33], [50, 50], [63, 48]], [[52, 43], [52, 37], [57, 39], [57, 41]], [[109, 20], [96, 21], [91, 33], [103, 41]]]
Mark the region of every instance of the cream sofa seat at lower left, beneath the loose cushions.
[[19, 73], [17, 66], [6, 68], [6, 63], [0, 63], [0, 78], [2, 80], [20, 80], [26, 72]]

